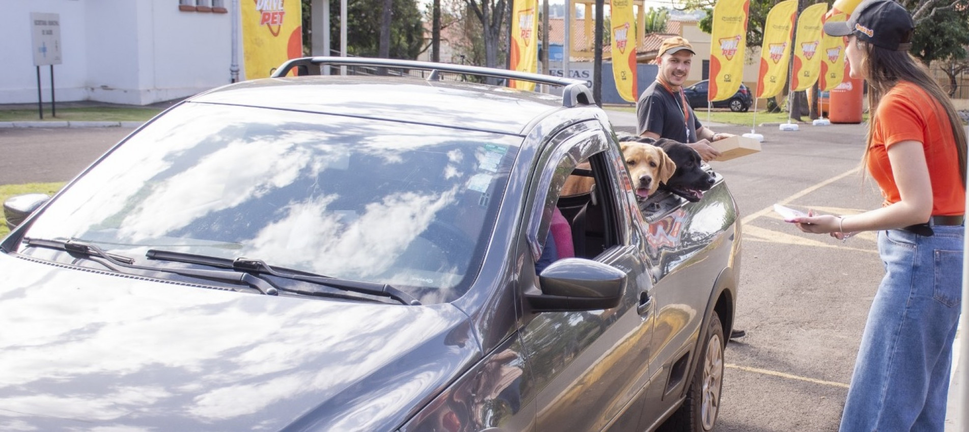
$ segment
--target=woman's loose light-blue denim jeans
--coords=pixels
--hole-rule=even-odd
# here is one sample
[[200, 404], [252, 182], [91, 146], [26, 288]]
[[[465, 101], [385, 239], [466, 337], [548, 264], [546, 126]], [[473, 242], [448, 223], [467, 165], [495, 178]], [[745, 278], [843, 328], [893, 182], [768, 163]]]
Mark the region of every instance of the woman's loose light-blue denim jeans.
[[885, 278], [861, 335], [841, 432], [942, 432], [962, 297], [963, 227], [878, 233]]

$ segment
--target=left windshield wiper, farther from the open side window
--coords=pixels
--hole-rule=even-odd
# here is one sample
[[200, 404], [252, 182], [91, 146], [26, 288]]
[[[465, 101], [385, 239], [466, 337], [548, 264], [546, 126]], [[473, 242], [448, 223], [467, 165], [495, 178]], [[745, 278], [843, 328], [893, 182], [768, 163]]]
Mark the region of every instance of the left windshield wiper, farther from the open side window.
[[[120, 256], [109, 254], [102, 250], [101, 248], [86, 243], [83, 241], [78, 241], [75, 239], [70, 240], [47, 240], [44, 238], [31, 238], [24, 237], [23, 242], [29, 246], [39, 246], [53, 249], [60, 249], [62, 251], [67, 251], [70, 253], [86, 255], [92, 261], [98, 262], [113, 271], [123, 273], [120, 268], [134, 268], [138, 270], [147, 271], [162, 271], [167, 273], [175, 273], [183, 276], [195, 276], [206, 279], [214, 279], [221, 282], [232, 282], [235, 284], [246, 284], [260, 293], [267, 295], [276, 295], [278, 290], [276, 287], [272, 286], [265, 279], [256, 277], [250, 273], [237, 272], [237, 271], [222, 271], [222, 270], [199, 270], [194, 268], [166, 268], [166, 267], [151, 267], [145, 265], [135, 265], [133, 262], [135, 260]], [[94, 258], [100, 258], [102, 260], [95, 260]]]

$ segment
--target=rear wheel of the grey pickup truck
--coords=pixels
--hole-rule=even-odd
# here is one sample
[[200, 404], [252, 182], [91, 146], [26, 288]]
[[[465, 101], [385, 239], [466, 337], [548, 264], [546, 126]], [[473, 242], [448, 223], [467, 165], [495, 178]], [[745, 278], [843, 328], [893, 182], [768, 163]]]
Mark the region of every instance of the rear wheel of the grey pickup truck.
[[661, 432], [708, 432], [720, 413], [720, 391], [724, 378], [724, 328], [716, 312], [706, 325], [706, 339], [694, 370], [693, 382], [686, 390], [683, 405], [660, 426]]

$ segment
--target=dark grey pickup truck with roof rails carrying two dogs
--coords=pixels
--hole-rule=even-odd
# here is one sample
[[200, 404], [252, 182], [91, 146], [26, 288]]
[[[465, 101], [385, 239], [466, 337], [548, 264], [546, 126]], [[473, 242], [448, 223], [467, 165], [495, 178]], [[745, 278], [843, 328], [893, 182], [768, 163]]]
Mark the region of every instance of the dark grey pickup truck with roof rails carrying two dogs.
[[318, 57], [166, 110], [8, 202], [0, 430], [712, 429], [737, 207], [638, 201], [592, 102]]

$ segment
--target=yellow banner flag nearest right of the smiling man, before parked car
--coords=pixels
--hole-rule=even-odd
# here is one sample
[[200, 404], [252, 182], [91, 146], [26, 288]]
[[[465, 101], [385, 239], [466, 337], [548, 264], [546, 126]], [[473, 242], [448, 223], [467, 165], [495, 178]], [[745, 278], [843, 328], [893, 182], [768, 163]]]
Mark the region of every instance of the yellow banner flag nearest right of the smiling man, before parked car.
[[734, 96], [743, 82], [750, 0], [719, 0], [713, 7], [710, 31], [710, 102]]

